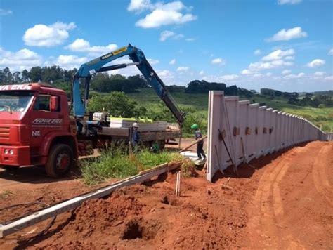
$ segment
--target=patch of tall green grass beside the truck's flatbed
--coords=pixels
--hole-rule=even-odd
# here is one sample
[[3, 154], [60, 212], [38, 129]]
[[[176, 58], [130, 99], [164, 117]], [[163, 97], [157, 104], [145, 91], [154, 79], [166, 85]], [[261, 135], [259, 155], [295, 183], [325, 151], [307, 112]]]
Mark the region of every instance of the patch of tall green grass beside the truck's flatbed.
[[100, 157], [81, 162], [84, 183], [96, 185], [110, 178], [126, 178], [153, 166], [172, 162], [183, 157], [170, 152], [152, 153], [148, 150], [129, 156], [122, 147], [108, 149]]

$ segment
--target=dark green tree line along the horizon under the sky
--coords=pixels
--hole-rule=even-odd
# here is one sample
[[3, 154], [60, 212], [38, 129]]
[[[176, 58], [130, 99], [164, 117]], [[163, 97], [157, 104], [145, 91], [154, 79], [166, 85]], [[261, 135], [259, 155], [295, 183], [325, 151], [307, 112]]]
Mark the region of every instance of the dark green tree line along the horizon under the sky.
[[[30, 71], [11, 73], [8, 67], [0, 70], [0, 84], [22, 84], [25, 82], [41, 82], [62, 88], [70, 93], [71, 83], [77, 69], [65, 70], [59, 66], [51, 67], [32, 67]], [[122, 91], [131, 93], [138, 91], [138, 88], [147, 88], [150, 84], [142, 75], [124, 77], [121, 74], [107, 74], [106, 72], [93, 75], [90, 88], [92, 91], [100, 93], [110, 93], [112, 91]], [[253, 91], [237, 86], [226, 86], [223, 83], [209, 81], [190, 81], [188, 86], [167, 86], [173, 92], [184, 91], [185, 93], [208, 93], [210, 90], [224, 91], [226, 96], [246, 96], [250, 98]]]

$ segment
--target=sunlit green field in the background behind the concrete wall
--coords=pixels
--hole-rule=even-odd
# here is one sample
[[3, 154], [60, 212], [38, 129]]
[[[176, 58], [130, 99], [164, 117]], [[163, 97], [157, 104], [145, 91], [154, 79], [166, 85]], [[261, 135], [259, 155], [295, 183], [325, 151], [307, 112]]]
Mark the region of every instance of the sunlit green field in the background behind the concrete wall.
[[[152, 88], [140, 88], [137, 93], [129, 93], [127, 95], [135, 100], [138, 105], [143, 105], [148, 110], [148, 114], [150, 111], [156, 112], [161, 109], [160, 99]], [[201, 114], [207, 119], [208, 94], [191, 94], [179, 91], [171, 93], [171, 95], [181, 108], [190, 108], [194, 114]], [[251, 103], [261, 103], [261, 105], [266, 104], [266, 106], [273, 107], [273, 109], [304, 117], [316, 126], [322, 126], [323, 131], [329, 132], [331, 128], [333, 131], [333, 107], [301, 107], [287, 103], [287, 98], [272, 98], [271, 96], [261, 95], [254, 95], [249, 99], [240, 96], [240, 100], [250, 100]]]

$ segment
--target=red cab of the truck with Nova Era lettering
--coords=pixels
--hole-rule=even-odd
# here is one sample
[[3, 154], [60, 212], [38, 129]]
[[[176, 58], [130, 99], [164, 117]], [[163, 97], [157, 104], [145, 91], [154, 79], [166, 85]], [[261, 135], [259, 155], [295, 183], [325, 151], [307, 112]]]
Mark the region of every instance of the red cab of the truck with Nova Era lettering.
[[76, 124], [65, 91], [42, 84], [0, 86], [0, 165], [45, 165], [60, 177], [77, 159]]

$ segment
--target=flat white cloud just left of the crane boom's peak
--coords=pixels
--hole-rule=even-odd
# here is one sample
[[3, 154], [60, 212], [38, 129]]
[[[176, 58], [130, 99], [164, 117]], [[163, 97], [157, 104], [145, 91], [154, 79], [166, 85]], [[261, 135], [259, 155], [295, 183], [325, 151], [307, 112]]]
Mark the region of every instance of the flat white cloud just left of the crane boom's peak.
[[89, 52], [91, 53], [90, 55], [100, 55], [114, 51], [117, 47], [117, 44], [109, 44], [107, 46], [91, 46], [89, 41], [76, 39], [72, 42], [72, 44], [66, 46], [65, 48], [70, 51]]

